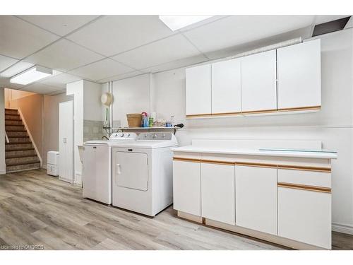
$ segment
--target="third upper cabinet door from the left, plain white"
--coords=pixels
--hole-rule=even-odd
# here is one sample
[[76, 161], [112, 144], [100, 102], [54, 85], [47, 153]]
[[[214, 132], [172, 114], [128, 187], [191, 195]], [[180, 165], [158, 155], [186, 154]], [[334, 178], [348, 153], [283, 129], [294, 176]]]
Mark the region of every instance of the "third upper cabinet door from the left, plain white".
[[241, 59], [241, 110], [277, 110], [275, 50]]

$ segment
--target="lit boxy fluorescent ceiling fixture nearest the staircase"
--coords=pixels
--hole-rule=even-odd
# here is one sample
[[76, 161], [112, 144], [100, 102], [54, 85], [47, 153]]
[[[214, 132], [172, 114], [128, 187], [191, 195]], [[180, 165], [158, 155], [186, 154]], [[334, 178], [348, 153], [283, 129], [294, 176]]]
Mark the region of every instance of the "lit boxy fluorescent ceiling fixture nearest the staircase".
[[27, 85], [29, 83], [38, 81], [44, 77], [52, 76], [52, 74], [52, 69], [36, 65], [26, 71], [23, 71], [22, 73], [18, 73], [18, 75], [16, 76], [13, 76], [13, 78], [10, 79], [10, 83]]

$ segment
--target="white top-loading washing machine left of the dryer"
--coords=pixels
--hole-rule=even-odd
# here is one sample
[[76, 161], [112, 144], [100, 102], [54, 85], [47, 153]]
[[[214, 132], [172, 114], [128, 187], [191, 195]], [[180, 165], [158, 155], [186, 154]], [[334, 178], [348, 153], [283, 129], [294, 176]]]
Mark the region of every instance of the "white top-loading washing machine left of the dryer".
[[107, 140], [83, 143], [83, 197], [112, 204], [112, 148], [136, 141], [135, 133], [114, 133]]

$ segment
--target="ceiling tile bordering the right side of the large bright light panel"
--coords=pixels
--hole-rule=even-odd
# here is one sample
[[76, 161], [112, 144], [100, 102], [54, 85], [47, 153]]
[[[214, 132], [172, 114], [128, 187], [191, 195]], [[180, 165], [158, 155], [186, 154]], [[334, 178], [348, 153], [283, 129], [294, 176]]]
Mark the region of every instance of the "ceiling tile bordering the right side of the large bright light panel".
[[229, 16], [183, 33], [202, 52], [225, 49], [304, 28], [314, 16]]

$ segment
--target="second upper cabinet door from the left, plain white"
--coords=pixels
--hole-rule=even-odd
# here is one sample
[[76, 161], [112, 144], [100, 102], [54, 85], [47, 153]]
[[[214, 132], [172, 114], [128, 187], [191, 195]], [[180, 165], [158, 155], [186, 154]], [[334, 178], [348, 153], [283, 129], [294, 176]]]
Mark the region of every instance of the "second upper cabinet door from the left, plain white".
[[212, 113], [241, 112], [240, 59], [212, 64]]

